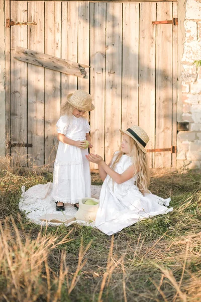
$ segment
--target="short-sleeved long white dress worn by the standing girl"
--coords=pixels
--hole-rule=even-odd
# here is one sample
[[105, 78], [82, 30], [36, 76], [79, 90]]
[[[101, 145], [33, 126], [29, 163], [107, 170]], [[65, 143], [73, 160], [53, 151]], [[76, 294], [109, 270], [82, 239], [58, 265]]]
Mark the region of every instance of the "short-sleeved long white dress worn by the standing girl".
[[[73, 140], [85, 140], [90, 131], [84, 117], [63, 115], [58, 120], [57, 132]], [[55, 201], [77, 203], [80, 198], [91, 196], [89, 162], [85, 158], [88, 149], [80, 149], [59, 141], [54, 163], [52, 197]]]

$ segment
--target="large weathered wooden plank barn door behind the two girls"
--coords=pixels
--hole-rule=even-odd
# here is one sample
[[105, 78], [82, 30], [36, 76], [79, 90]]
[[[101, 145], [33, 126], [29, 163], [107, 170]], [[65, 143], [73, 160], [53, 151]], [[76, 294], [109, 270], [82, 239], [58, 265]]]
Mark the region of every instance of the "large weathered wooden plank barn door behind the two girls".
[[[176, 2], [7, 1], [5, 6], [6, 19], [36, 23], [6, 28], [8, 153], [28, 159], [28, 166], [34, 160], [52, 167], [60, 105], [68, 93], [84, 89], [95, 105], [93, 153], [109, 163], [120, 146], [119, 129], [138, 124], [150, 137], [150, 167], [175, 167], [175, 154], [164, 149], [176, 145], [178, 27], [152, 22], [177, 18]], [[87, 78], [18, 61], [16, 46], [90, 65]]]

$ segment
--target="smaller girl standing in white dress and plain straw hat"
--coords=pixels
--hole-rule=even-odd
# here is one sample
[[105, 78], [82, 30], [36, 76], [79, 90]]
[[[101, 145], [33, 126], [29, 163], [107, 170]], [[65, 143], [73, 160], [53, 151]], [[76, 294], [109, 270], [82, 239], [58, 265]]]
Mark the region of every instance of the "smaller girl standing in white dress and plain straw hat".
[[76, 90], [67, 96], [62, 107], [64, 115], [57, 126], [59, 145], [54, 163], [52, 197], [56, 210], [65, 210], [64, 203], [77, 206], [80, 198], [91, 196], [91, 178], [89, 163], [85, 158], [88, 154], [87, 142], [90, 143], [90, 127], [86, 111], [94, 109], [91, 96]]

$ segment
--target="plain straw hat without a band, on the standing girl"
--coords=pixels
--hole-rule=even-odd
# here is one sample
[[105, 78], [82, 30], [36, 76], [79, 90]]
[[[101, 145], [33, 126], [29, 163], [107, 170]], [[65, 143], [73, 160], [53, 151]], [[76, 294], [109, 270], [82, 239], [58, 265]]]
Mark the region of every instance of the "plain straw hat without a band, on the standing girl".
[[92, 98], [88, 92], [84, 90], [76, 90], [67, 96], [67, 102], [81, 111], [91, 111], [95, 107], [92, 104]]

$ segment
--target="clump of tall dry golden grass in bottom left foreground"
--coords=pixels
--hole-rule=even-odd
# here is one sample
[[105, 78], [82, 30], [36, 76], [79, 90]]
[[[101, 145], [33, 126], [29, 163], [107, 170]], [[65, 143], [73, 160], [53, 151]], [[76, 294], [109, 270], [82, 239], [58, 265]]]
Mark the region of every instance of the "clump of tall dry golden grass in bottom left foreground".
[[46, 296], [47, 301], [52, 297], [54, 302], [59, 301], [65, 281], [62, 270], [64, 258], [57, 276], [48, 265], [48, 257], [52, 250], [71, 241], [69, 235], [72, 230], [63, 239], [39, 232], [33, 240], [19, 232], [13, 217], [10, 222], [7, 219], [4, 225], [0, 224], [0, 273], [5, 284], [1, 288], [4, 298], [30, 302]]

